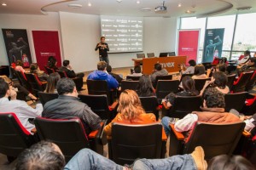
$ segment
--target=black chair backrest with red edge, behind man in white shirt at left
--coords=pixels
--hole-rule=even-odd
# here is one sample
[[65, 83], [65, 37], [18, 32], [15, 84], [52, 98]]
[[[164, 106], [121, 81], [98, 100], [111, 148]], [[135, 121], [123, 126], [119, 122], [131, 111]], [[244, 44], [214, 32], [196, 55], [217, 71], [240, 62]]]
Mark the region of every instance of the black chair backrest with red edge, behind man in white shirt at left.
[[33, 143], [31, 133], [22, 126], [15, 113], [0, 113], [0, 153], [17, 157]]

